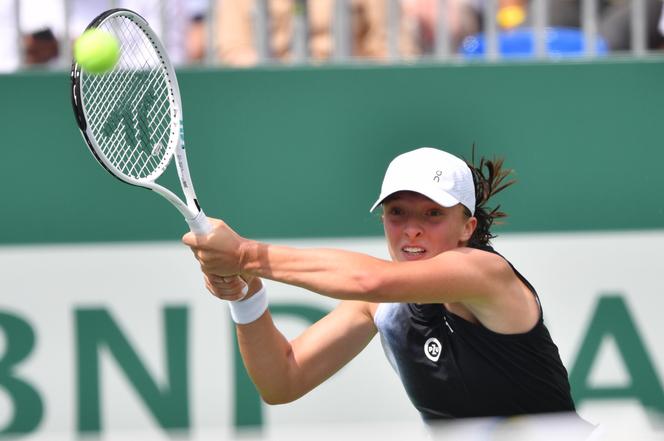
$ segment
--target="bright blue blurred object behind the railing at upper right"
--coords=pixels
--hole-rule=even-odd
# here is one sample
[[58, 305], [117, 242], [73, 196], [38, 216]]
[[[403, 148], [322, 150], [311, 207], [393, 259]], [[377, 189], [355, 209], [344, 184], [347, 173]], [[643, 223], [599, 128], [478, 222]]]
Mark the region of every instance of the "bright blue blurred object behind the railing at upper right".
[[[597, 36], [596, 53], [604, 55], [608, 48], [604, 39]], [[585, 54], [583, 32], [572, 28], [546, 29], [547, 53], [553, 57], [578, 57]], [[484, 34], [466, 37], [460, 52], [466, 58], [483, 57], [486, 51]], [[517, 28], [498, 33], [498, 51], [504, 58], [529, 58], [535, 55], [534, 32], [529, 28]]]

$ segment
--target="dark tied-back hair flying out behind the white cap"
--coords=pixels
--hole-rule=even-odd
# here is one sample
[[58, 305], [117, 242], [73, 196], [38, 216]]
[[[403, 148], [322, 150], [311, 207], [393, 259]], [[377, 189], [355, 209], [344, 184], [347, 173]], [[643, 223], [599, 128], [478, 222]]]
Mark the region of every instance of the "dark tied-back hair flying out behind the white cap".
[[[481, 248], [489, 245], [489, 241], [496, 237], [491, 233], [491, 226], [499, 218], [507, 217], [507, 213], [500, 211], [500, 205], [494, 208], [486, 206], [489, 199], [516, 182], [511, 179], [504, 182], [512, 173], [512, 169], [503, 169], [503, 158], [493, 158], [487, 160], [480, 158], [480, 163], [475, 165], [475, 145], [473, 145], [473, 157], [471, 162], [466, 161], [475, 184], [475, 217], [477, 218], [477, 228], [468, 241], [469, 247]], [[470, 210], [466, 208], [466, 215], [471, 216]], [[496, 224], [500, 224], [498, 221]]]

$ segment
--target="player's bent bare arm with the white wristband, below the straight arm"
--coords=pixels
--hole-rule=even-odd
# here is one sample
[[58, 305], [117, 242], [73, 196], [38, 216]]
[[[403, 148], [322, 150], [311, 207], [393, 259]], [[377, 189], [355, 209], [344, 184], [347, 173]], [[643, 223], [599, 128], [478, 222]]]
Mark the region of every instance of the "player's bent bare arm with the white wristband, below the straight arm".
[[236, 326], [247, 372], [268, 404], [288, 403], [314, 389], [377, 332], [370, 304], [361, 301], [341, 302], [292, 341], [276, 328], [269, 310], [252, 323]]

